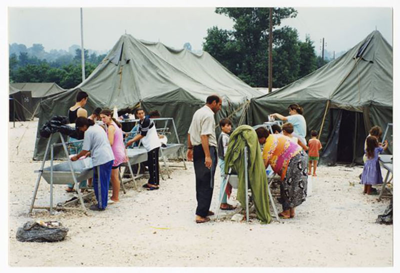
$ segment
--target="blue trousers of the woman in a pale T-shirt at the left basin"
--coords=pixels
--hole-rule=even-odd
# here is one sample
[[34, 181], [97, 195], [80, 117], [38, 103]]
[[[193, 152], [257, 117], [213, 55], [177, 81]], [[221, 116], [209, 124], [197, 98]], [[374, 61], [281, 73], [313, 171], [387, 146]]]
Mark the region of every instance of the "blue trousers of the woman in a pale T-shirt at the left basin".
[[[93, 189], [99, 208], [105, 208], [107, 206], [109, 179], [111, 178], [111, 167], [113, 162], [114, 160], [111, 160], [107, 163], [93, 167]], [[99, 183], [98, 177], [100, 177]]]

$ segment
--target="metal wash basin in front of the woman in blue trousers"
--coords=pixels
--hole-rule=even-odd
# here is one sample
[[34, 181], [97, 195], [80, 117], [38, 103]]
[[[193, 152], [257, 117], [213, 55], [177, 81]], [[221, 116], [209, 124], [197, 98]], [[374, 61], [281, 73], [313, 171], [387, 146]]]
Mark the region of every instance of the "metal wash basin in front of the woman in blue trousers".
[[[84, 181], [93, 177], [93, 166], [91, 158], [72, 161], [72, 168], [75, 173], [76, 181]], [[39, 171], [35, 171], [36, 173]], [[42, 177], [50, 184], [50, 167], [44, 168]], [[53, 184], [73, 183], [72, 174], [68, 162], [53, 165]]]

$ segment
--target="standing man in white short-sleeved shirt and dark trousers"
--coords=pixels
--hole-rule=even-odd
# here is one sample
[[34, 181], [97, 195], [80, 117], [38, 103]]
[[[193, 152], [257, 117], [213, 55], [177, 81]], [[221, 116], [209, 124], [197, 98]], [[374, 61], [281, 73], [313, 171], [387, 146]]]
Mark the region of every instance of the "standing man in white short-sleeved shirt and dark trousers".
[[222, 98], [208, 96], [206, 104], [198, 109], [187, 132], [187, 160], [193, 160], [196, 177], [196, 223], [209, 221], [209, 211], [217, 163], [214, 114], [221, 109]]

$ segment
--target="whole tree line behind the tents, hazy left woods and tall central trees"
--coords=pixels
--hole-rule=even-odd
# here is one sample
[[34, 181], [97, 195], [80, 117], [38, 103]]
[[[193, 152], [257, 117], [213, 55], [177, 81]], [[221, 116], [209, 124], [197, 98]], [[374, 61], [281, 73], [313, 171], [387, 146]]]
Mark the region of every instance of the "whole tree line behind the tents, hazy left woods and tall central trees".
[[[269, 9], [216, 8], [215, 13], [232, 19], [233, 30], [209, 28], [202, 49], [248, 85], [267, 87]], [[280, 27], [282, 20], [296, 15], [293, 8], [273, 8], [273, 87], [283, 87], [328, 62], [316, 56], [309, 36], [302, 42], [296, 29]], [[189, 43], [183, 47], [191, 50]], [[68, 52], [47, 53], [41, 44], [30, 48], [12, 44], [9, 53], [10, 82], [55, 82], [65, 89], [81, 83], [81, 51], [77, 45], [69, 47]], [[84, 50], [86, 78], [105, 56]]]

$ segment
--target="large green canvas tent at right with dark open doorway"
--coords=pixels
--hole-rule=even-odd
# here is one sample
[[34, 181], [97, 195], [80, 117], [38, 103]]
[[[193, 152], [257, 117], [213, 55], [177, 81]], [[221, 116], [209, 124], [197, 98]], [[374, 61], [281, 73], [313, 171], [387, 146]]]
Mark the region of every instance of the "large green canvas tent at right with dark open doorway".
[[345, 54], [283, 88], [251, 99], [248, 120], [259, 124], [287, 107], [304, 108], [307, 135], [320, 134], [326, 164], [361, 163], [363, 144], [373, 125], [392, 122], [392, 47], [378, 31]]

